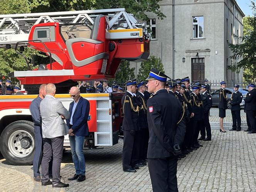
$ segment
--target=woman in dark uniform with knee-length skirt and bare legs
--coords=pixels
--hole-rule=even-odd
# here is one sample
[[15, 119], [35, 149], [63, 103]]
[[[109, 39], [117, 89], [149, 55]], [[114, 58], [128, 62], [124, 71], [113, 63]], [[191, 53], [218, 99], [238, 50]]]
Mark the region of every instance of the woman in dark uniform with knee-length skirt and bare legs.
[[219, 129], [219, 131], [221, 131], [222, 133], [226, 133], [227, 131], [224, 130], [223, 128], [223, 120], [224, 117], [226, 117], [226, 109], [227, 109], [227, 95], [225, 92], [225, 88], [226, 88], [226, 82], [225, 81], [221, 81], [221, 89], [219, 91], [219, 124], [221, 126], [221, 128]]

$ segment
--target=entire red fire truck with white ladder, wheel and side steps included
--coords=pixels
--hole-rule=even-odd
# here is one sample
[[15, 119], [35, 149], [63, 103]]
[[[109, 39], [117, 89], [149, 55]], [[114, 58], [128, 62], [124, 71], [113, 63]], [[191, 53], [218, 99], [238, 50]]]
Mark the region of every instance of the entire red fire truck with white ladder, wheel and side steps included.
[[[68, 109], [68, 91], [77, 81], [115, 77], [122, 59], [140, 62], [149, 56], [150, 34], [125, 9], [0, 15], [0, 47], [15, 48], [27, 71], [14, 71], [27, 95], [0, 96], [0, 151], [13, 165], [29, 165], [34, 156], [34, 125], [29, 111], [40, 84], [54, 83], [56, 98]], [[28, 46], [45, 53], [49, 64], [31, 64]], [[118, 143], [122, 125], [121, 93], [81, 94], [90, 102], [89, 132], [84, 147]], [[69, 147], [65, 137], [64, 147]]]

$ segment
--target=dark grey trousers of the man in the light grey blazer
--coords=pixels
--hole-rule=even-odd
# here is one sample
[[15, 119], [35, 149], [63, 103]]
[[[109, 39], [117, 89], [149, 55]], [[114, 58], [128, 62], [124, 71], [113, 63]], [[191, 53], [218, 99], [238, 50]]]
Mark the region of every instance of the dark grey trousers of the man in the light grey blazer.
[[42, 158], [42, 182], [49, 181], [49, 163], [52, 158], [52, 184], [56, 184], [61, 180], [61, 160], [63, 153], [64, 136], [54, 138], [43, 138], [44, 150]]

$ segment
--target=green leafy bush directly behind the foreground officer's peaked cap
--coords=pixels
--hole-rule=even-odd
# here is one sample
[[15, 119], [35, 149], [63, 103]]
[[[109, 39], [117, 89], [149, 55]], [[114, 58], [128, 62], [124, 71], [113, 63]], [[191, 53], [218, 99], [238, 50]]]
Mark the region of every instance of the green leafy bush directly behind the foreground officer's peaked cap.
[[150, 69], [152, 67], [154, 67], [155, 69], [162, 71], [164, 73], [163, 63], [162, 63], [161, 59], [159, 57], [150, 56], [150, 58], [147, 61], [141, 62], [137, 79], [138, 80], [147, 79]]

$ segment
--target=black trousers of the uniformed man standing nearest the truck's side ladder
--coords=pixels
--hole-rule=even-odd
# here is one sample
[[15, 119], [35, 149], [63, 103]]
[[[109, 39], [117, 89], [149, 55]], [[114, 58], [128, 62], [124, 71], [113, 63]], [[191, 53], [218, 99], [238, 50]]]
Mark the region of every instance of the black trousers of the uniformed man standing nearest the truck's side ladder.
[[133, 152], [134, 136], [130, 131], [123, 131], [123, 170], [131, 168], [131, 155]]

